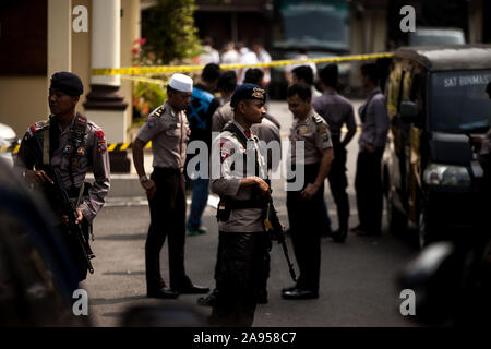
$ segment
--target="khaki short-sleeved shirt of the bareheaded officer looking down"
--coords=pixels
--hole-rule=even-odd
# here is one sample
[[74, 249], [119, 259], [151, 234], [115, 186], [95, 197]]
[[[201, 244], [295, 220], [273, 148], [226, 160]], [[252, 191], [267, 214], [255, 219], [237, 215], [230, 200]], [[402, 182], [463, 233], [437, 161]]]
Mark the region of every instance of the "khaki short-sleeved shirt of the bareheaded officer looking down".
[[[290, 129], [290, 148], [289, 156], [291, 164], [316, 164], [322, 159], [322, 152], [333, 147], [331, 142], [331, 133], [322, 117], [320, 117], [313, 109], [309, 112], [307, 118], [302, 121], [294, 120]], [[304, 143], [304, 157], [297, 158], [296, 148], [297, 142]]]

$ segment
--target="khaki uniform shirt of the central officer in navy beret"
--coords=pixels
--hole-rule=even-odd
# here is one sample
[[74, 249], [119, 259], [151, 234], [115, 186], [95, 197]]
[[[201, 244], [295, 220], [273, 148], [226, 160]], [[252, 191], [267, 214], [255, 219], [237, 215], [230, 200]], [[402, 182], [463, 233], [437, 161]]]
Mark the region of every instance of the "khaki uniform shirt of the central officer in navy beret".
[[[242, 132], [243, 128], [233, 122]], [[224, 131], [213, 143], [212, 164], [220, 163], [220, 176], [215, 178], [212, 171], [211, 189], [212, 192], [219, 196], [229, 196], [233, 200], [252, 200], [253, 188], [239, 188], [240, 180], [246, 177], [252, 177], [254, 173], [247, 173], [248, 166], [237, 166], [238, 161], [242, 161], [244, 154], [254, 153], [259, 155], [258, 163], [260, 165], [260, 177], [266, 178], [265, 163], [258, 147], [258, 137], [252, 135], [252, 140], [248, 142], [246, 149], [236, 135], [231, 132]], [[219, 159], [216, 159], [219, 154]], [[212, 165], [215, 166], [215, 165]], [[254, 168], [252, 167], [251, 170]], [[216, 176], [218, 177], [218, 176]], [[225, 232], [258, 232], [264, 231], [263, 209], [246, 208], [233, 209], [227, 221], [218, 221], [219, 231]]]

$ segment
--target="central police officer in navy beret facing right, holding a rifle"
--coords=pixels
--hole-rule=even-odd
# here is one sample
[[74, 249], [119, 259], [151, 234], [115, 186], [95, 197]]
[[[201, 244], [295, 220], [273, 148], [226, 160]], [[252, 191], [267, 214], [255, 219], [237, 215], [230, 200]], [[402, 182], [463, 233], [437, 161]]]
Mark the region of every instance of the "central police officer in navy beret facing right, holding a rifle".
[[[264, 117], [266, 92], [243, 84], [231, 98], [233, 122], [214, 141], [212, 185], [220, 196], [216, 292], [212, 323], [251, 326], [271, 241], [263, 217], [270, 195], [266, 164], [250, 129]], [[219, 159], [216, 154], [219, 152]], [[217, 172], [218, 170], [218, 172]]]

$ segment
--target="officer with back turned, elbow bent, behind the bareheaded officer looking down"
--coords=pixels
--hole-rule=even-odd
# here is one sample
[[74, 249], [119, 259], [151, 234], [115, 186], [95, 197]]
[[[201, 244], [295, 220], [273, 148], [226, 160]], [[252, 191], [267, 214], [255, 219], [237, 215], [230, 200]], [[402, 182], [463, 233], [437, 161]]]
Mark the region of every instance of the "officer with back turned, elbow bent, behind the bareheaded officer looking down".
[[[314, 110], [330, 125], [331, 141], [334, 149], [334, 161], [328, 174], [331, 192], [337, 207], [339, 229], [333, 231], [335, 242], [344, 242], [348, 232], [349, 198], [346, 193], [346, 146], [357, 132], [357, 123], [351, 103], [336, 93], [338, 82], [337, 64], [326, 65], [319, 74], [323, 94], [312, 101]], [[343, 141], [340, 130], [346, 124], [348, 132]]]

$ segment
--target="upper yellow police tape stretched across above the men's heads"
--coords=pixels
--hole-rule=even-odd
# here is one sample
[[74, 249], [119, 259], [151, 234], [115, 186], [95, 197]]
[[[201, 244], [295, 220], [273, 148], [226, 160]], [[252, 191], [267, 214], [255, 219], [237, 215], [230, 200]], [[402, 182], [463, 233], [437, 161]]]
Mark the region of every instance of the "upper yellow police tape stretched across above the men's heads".
[[[392, 52], [383, 53], [370, 53], [370, 55], [352, 55], [352, 56], [338, 56], [338, 57], [325, 57], [325, 58], [310, 58], [306, 60], [279, 60], [272, 61], [270, 63], [254, 63], [254, 64], [220, 64], [223, 70], [229, 69], [242, 69], [242, 68], [268, 68], [268, 67], [282, 67], [302, 63], [331, 63], [331, 62], [347, 62], [347, 61], [362, 61], [378, 58], [390, 58]], [[101, 68], [93, 69], [93, 75], [147, 75], [147, 74], [164, 74], [164, 73], [177, 73], [177, 72], [191, 72], [196, 70], [203, 70], [204, 65], [153, 65], [153, 67], [129, 67], [129, 68]]]

